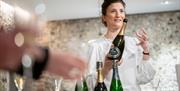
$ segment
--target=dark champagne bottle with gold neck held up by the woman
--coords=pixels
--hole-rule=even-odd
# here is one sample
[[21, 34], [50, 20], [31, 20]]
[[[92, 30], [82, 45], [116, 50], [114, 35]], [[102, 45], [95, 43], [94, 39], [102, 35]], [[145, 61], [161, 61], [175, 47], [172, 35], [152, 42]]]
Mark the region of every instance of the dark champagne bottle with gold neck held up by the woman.
[[123, 27], [119, 31], [118, 35], [113, 40], [113, 46], [110, 48], [108, 58], [111, 60], [120, 60], [124, 51], [125, 40], [124, 33], [126, 29], [127, 19], [123, 21]]

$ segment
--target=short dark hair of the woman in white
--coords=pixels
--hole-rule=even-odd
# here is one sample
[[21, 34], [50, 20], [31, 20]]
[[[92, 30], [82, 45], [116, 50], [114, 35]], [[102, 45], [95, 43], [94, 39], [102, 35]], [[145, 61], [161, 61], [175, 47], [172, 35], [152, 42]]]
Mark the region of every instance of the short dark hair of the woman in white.
[[[103, 4], [101, 5], [102, 15], [106, 15], [106, 10], [109, 5], [111, 5], [112, 3], [117, 3], [117, 2], [121, 3], [124, 6], [124, 8], [126, 7], [126, 3], [123, 0], [104, 0]], [[104, 22], [103, 20], [102, 22], [105, 26], [107, 26], [106, 22]]]

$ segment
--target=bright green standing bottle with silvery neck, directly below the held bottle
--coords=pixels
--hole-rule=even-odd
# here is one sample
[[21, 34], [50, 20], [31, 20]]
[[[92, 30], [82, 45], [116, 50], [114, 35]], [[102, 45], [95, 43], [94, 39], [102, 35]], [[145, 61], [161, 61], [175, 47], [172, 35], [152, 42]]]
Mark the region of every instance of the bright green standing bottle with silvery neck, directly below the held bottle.
[[123, 91], [121, 80], [119, 78], [117, 63], [115, 60], [113, 60], [113, 76], [111, 80], [110, 91]]

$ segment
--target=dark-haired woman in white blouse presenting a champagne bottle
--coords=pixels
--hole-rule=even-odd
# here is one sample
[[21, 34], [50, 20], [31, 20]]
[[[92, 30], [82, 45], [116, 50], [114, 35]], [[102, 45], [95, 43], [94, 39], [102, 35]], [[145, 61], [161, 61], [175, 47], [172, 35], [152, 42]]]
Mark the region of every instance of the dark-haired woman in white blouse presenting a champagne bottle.
[[[96, 74], [96, 61], [104, 61], [103, 74], [108, 89], [112, 77], [112, 62], [106, 55], [125, 18], [125, 3], [122, 0], [104, 0], [102, 22], [107, 27], [107, 32], [102, 38], [90, 42], [89, 74]], [[136, 36], [137, 38], [125, 36], [125, 49], [122, 59], [118, 62], [124, 91], [140, 91], [139, 85], [149, 82], [155, 75], [155, 70], [149, 63], [148, 36], [143, 29], [136, 32]]]

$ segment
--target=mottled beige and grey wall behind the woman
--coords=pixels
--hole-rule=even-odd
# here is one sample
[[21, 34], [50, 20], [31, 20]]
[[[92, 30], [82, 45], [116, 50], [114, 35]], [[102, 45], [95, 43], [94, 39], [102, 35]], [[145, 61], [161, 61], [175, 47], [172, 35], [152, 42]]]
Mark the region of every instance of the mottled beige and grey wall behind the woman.
[[[129, 15], [127, 18], [126, 35], [134, 36], [133, 33], [142, 27], [147, 31], [157, 70], [154, 80], [143, 85], [142, 91], [178, 91], [175, 65], [180, 64], [180, 11]], [[88, 40], [105, 32], [100, 18], [51, 21], [41, 42], [52, 49], [78, 54]], [[63, 88], [66, 86], [63, 85]]]

